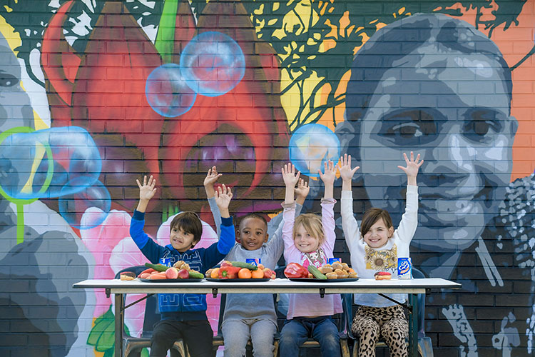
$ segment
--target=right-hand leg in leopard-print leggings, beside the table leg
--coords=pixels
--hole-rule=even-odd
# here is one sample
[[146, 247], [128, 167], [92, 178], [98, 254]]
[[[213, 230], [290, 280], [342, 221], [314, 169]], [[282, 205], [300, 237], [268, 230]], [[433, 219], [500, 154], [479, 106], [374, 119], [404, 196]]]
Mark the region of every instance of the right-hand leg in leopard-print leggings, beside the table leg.
[[403, 313], [402, 306], [389, 306], [383, 308], [384, 318], [388, 318], [381, 326], [381, 335], [390, 349], [391, 357], [407, 357], [407, 344], [405, 338], [409, 330], [409, 323]]

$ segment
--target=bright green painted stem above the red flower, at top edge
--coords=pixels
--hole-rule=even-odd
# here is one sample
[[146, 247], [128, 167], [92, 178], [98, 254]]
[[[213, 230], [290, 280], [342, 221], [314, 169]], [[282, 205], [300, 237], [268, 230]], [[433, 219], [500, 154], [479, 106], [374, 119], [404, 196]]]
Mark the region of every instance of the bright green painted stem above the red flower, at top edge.
[[178, 11], [178, 0], [165, 0], [162, 16], [158, 25], [158, 34], [154, 46], [165, 63], [173, 62], [175, 49], [175, 22]]

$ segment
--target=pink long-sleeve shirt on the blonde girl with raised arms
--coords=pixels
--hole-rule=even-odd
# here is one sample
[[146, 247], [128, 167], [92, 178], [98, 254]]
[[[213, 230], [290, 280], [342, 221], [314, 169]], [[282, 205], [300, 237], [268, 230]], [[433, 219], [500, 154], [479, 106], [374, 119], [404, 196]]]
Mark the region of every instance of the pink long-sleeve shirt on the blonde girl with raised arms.
[[[314, 256], [315, 266], [318, 268], [327, 263], [328, 258], [333, 258], [332, 252], [335, 248], [335, 214], [334, 206], [336, 200], [322, 199], [322, 226], [325, 233], [325, 241], [317, 251], [309, 253]], [[282, 204], [284, 211], [282, 218], [282, 239], [284, 240], [284, 258], [286, 263], [300, 263], [302, 266], [308, 266], [311, 261], [305, 253], [299, 251], [295, 246], [293, 239], [293, 226], [295, 222], [295, 203]], [[320, 249], [324, 254], [320, 253]], [[298, 284], [296, 282], [296, 284]], [[313, 293], [292, 293], [289, 294], [288, 313], [286, 318], [291, 320], [294, 317], [313, 317], [313, 316], [332, 316], [335, 313], [342, 312], [342, 301], [339, 294], [325, 295], [323, 298], [320, 294]]]

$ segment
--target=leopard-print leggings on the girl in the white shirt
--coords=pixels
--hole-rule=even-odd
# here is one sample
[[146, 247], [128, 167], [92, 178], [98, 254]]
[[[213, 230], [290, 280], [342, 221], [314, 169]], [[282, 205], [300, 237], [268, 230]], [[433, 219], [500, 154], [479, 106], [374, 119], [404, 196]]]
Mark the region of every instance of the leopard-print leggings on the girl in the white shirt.
[[407, 357], [405, 338], [409, 324], [402, 306], [360, 306], [353, 318], [351, 331], [359, 336], [359, 356], [375, 357], [375, 343], [380, 335], [387, 343], [391, 357]]

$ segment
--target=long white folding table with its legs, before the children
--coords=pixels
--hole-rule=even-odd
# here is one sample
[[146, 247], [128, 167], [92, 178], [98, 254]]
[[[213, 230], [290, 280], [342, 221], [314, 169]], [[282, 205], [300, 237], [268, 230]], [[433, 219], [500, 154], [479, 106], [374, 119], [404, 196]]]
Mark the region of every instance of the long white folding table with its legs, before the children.
[[84, 280], [73, 284], [74, 288], [102, 288], [106, 295], [115, 295], [115, 357], [123, 357], [123, 324], [124, 306], [123, 294], [126, 293], [407, 293], [408, 301], [405, 307], [409, 310], [409, 356], [417, 357], [418, 333], [418, 299], [417, 294], [426, 293], [429, 289], [461, 288], [461, 284], [442, 278], [423, 278], [410, 280], [382, 280], [359, 279], [358, 281], [317, 281], [302, 282], [276, 278], [271, 281], [254, 281], [247, 279], [236, 282], [198, 281], [198, 282], [162, 282], [111, 280]]

